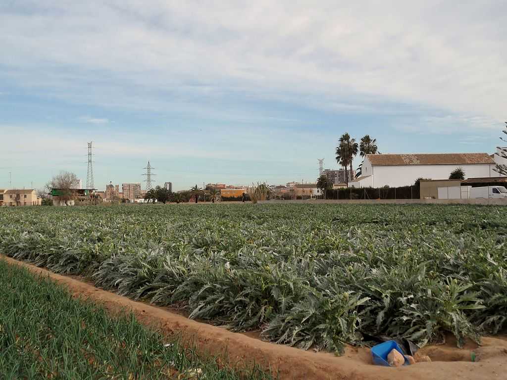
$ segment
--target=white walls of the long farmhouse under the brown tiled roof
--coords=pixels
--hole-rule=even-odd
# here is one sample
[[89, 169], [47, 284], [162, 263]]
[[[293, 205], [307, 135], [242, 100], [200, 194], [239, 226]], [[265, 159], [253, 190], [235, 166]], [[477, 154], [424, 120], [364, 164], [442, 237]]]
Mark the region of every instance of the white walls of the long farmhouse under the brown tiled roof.
[[[363, 164], [362, 175], [373, 175], [372, 187], [410, 186], [417, 178], [448, 179], [449, 174], [457, 167], [463, 168], [465, 178], [495, 177], [493, 164], [474, 165], [376, 165], [372, 166], [368, 157]], [[367, 187], [367, 186], [361, 186]]]

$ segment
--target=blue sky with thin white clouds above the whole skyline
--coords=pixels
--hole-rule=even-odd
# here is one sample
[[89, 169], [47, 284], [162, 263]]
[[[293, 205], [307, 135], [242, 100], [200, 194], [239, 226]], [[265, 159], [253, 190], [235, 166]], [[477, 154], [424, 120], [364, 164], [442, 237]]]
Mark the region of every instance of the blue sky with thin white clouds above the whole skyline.
[[90, 141], [101, 190], [142, 182], [149, 160], [174, 189], [314, 181], [318, 159], [338, 168], [345, 132], [382, 153], [493, 153], [506, 14], [479, 0], [4, 0], [0, 188], [61, 170], [86, 183]]

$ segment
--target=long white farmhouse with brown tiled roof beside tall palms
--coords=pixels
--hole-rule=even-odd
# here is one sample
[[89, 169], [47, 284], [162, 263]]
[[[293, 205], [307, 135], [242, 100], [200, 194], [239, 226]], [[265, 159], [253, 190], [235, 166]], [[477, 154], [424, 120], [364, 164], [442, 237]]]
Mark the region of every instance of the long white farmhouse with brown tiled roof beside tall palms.
[[494, 167], [487, 153], [366, 155], [361, 176], [349, 186], [409, 186], [417, 178], [448, 179], [456, 168], [462, 168], [465, 177], [496, 177]]

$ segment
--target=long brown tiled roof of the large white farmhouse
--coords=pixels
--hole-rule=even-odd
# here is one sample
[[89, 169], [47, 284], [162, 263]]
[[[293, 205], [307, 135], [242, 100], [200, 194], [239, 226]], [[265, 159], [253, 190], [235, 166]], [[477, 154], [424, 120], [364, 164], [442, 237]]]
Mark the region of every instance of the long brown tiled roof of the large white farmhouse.
[[366, 155], [372, 165], [470, 165], [494, 164], [487, 153], [434, 153]]

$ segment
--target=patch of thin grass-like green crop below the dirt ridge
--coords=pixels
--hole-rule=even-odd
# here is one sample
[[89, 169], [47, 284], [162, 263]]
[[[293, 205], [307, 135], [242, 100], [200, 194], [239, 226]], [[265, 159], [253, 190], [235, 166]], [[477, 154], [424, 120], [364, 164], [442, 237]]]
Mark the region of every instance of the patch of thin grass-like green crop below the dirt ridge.
[[61, 286], [0, 260], [2, 379], [267, 379], [219, 368], [132, 314], [111, 317]]

